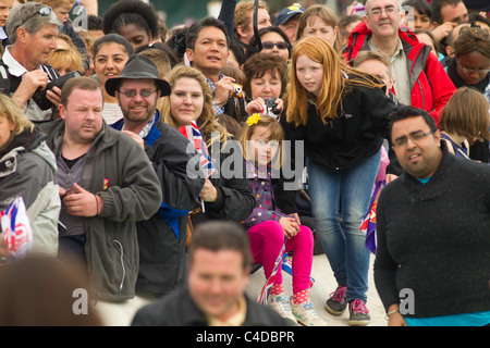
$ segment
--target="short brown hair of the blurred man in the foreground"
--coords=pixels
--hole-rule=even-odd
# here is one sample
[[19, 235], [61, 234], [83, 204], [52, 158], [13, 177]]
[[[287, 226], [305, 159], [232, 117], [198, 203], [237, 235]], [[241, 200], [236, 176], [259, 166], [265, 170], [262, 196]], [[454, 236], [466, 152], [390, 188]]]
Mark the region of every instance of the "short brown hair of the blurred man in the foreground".
[[193, 262], [197, 249], [210, 251], [234, 250], [243, 256], [243, 269], [252, 265], [253, 259], [248, 235], [242, 225], [230, 221], [210, 221], [196, 226], [188, 247], [189, 261]]

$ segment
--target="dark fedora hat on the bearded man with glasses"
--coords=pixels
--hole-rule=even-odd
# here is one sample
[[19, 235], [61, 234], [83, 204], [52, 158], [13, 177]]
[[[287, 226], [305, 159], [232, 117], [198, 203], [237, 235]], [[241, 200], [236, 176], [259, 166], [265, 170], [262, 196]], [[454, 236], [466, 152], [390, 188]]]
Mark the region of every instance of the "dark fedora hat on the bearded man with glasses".
[[109, 78], [106, 82], [106, 90], [109, 96], [115, 97], [114, 92], [120, 83], [125, 79], [151, 78], [155, 80], [157, 88], [161, 90], [161, 97], [170, 95], [170, 84], [158, 77], [158, 69], [155, 63], [147, 57], [142, 54], [133, 54], [124, 65], [119, 77]]

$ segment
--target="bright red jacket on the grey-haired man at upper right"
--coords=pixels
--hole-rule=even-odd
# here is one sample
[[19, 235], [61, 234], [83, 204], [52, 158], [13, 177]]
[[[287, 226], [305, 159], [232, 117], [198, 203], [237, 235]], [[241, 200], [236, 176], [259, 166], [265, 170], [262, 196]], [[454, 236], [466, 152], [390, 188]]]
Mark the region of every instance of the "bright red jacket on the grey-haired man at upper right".
[[[359, 51], [369, 50], [368, 39], [371, 35], [372, 32], [364, 22], [352, 30], [347, 49], [343, 53], [347, 63], [353, 65]], [[399, 36], [407, 59], [412, 107], [429, 112], [439, 125], [439, 112], [456, 91], [456, 87], [427, 45], [420, 44], [406, 28], [399, 29]]]

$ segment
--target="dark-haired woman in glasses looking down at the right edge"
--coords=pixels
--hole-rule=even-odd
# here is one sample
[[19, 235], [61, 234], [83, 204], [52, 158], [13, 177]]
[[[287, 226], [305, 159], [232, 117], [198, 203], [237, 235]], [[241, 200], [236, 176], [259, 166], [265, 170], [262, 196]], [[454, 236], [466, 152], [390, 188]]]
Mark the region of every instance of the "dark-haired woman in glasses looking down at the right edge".
[[[476, 27], [462, 28], [453, 48], [455, 57], [449, 61], [446, 72], [454, 86], [475, 88], [490, 102], [490, 34]], [[489, 141], [473, 142], [469, 158], [488, 163]]]

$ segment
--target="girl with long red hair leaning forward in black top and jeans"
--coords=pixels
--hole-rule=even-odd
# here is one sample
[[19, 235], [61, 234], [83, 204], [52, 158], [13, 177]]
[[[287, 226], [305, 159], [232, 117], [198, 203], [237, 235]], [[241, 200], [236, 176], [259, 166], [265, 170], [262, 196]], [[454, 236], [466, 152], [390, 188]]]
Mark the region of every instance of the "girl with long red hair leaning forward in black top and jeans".
[[[286, 112], [280, 119], [286, 140], [304, 141], [313, 214], [339, 284], [326, 309], [341, 315], [348, 303], [351, 325], [369, 323], [369, 251], [359, 226], [388, 136], [388, 115], [396, 109], [381, 86], [347, 66], [326, 40], [305, 38], [293, 49]], [[291, 204], [282, 209], [295, 212]]]

